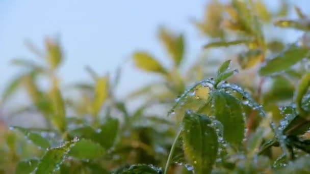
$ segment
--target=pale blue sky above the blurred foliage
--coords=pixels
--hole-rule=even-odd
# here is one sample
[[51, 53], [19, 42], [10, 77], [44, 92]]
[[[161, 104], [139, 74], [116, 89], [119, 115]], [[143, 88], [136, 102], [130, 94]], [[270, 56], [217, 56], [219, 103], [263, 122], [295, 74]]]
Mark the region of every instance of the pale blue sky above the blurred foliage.
[[[274, 2], [269, 1], [273, 6]], [[17, 67], [9, 64], [12, 58], [35, 60], [23, 45], [24, 39], [42, 47], [44, 36], [61, 37], [66, 60], [60, 75], [66, 82], [88, 79], [85, 65], [100, 74], [113, 72], [135, 49], [150, 50], [169, 66], [156, 37], [160, 24], [185, 33], [187, 59], [194, 60], [206, 40], [189, 21], [203, 16], [205, 3], [205, 0], [0, 0], [0, 92], [18, 72]], [[308, 0], [294, 4], [305, 12], [310, 9]], [[121, 91], [131, 91], [156, 78], [135, 70], [132, 64], [126, 65], [123, 72]]]

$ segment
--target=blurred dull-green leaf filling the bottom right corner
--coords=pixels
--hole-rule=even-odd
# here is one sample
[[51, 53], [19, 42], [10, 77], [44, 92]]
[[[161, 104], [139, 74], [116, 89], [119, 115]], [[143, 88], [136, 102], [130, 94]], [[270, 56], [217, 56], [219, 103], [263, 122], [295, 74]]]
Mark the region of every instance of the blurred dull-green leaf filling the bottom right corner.
[[275, 173], [294, 174], [308, 173], [310, 171], [310, 157], [300, 157], [295, 161], [290, 162], [285, 167], [275, 170]]

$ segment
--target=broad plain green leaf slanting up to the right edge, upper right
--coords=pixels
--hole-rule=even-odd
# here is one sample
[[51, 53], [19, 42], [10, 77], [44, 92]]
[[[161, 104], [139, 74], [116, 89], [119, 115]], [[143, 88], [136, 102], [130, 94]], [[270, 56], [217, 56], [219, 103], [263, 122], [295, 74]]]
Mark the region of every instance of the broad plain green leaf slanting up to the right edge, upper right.
[[260, 69], [261, 75], [270, 75], [279, 71], [287, 70], [297, 62], [307, 57], [309, 49], [295, 44], [271, 59]]

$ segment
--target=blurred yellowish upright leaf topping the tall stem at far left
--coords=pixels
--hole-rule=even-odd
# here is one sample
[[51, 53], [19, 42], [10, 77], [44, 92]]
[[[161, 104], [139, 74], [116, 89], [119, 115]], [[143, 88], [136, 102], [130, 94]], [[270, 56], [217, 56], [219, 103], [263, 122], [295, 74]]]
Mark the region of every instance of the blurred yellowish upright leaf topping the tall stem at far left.
[[51, 68], [57, 68], [63, 60], [63, 52], [56, 40], [47, 38], [45, 40], [45, 46], [47, 50], [47, 60]]

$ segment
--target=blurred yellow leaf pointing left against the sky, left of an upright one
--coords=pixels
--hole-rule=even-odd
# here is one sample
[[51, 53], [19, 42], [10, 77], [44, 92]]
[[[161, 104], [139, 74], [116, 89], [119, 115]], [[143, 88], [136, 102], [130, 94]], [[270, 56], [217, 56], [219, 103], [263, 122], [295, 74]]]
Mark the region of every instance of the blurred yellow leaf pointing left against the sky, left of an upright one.
[[146, 52], [135, 52], [133, 55], [133, 59], [135, 61], [136, 67], [140, 68], [141, 70], [166, 74], [166, 70], [161, 65], [161, 63]]

